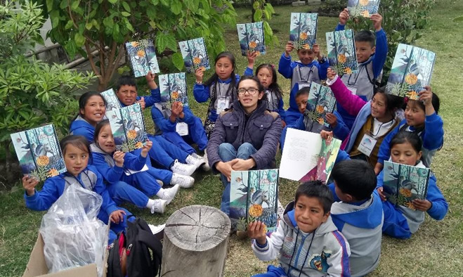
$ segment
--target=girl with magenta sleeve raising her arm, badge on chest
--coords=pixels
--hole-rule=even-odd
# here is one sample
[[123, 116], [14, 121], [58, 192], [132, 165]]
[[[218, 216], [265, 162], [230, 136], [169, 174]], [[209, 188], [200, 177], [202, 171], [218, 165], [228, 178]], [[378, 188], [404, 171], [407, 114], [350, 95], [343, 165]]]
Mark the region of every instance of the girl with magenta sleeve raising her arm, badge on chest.
[[400, 98], [378, 89], [372, 100], [366, 102], [360, 96], [351, 94], [331, 68], [327, 70], [327, 77], [327, 84], [338, 103], [346, 107], [351, 115], [356, 115], [351, 132], [341, 149], [346, 150], [353, 159], [366, 160], [374, 167], [384, 137], [398, 124], [395, 115]]

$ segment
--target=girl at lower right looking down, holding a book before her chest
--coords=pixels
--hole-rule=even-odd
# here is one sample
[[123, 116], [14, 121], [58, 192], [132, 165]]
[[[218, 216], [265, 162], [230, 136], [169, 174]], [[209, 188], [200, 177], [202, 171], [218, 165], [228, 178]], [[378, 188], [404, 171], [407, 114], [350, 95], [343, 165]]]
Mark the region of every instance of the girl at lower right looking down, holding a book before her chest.
[[[391, 160], [402, 165], [423, 167], [422, 141], [419, 136], [410, 131], [400, 131], [391, 140]], [[377, 176], [377, 191], [383, 200], [384, 225], [383, 233], [394, 238], [410, 238], [418, 231], [424, 221], [424, 212], [433, 219], [441, 220], [448, 211], [448, 203], [436, 185], [436, 176], [431, 174], [425, 200], [415, 199], [412, 205], [416, 210], [408, 207], [393, 205], [383, 193], [384, 172]]]

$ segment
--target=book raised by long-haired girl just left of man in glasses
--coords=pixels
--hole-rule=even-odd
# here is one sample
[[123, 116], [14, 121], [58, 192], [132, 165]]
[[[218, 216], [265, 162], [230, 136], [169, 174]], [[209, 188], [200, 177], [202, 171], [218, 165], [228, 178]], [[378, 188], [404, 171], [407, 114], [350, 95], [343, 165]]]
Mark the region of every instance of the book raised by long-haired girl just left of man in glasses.
[[209, 57], [202, 37], [178, 42], [187, 72], [194, 73], [198, 68], [208, 70]]

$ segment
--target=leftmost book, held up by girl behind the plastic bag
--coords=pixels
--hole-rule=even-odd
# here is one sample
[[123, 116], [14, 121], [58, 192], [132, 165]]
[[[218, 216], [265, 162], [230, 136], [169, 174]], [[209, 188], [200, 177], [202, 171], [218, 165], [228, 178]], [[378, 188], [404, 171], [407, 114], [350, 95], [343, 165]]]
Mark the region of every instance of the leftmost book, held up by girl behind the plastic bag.
[[39, 181], [67, 172], [53, 124], [11, 134], [22, 174]]

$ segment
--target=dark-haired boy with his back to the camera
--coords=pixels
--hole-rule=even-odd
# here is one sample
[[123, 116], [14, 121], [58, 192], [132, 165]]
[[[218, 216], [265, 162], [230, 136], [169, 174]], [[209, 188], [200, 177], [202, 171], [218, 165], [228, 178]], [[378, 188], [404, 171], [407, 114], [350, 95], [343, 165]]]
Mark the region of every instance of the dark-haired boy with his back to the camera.
[[381, 254], [384, 221], [381, 198], [376, 190], [376, 174], [361, 160], [344, 160], [334, 165], [334, 195], [331, 217], [351, 246], [352, 276], [364, 276], [376, 269]]

